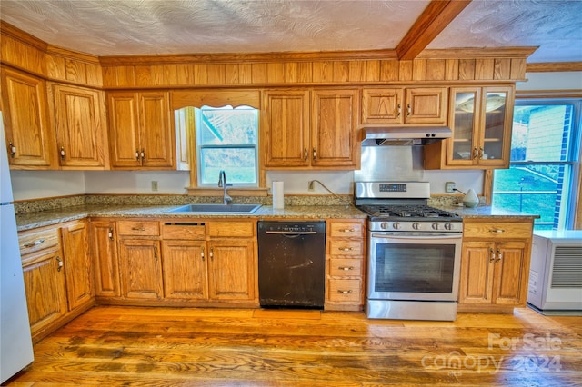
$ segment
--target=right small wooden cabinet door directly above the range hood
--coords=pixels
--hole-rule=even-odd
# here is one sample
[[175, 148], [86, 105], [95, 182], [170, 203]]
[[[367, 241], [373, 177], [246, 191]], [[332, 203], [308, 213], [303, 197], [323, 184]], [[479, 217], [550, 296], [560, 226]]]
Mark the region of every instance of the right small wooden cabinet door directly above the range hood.
[[447, 124], [446, 87], [407, 88], [405, 101], [405, 124]]

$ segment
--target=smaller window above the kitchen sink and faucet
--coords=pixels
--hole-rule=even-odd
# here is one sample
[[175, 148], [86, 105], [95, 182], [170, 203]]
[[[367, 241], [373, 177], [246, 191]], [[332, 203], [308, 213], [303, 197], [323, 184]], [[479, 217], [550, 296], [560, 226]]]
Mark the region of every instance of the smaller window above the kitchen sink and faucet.
[[221, 170], [230, 185], [258, 182], [258, 111], [252, 107], [195, 109], [198, 186], [215, 186]]

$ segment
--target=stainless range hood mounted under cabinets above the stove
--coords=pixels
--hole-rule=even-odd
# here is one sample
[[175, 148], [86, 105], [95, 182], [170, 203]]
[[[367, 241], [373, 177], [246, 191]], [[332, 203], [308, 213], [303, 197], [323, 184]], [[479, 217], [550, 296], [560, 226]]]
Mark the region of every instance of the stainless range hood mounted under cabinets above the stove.
[[363, 128], [362, 146], [424, 145], [450, 138], [453, 131], [447, 126], [396, 126]]

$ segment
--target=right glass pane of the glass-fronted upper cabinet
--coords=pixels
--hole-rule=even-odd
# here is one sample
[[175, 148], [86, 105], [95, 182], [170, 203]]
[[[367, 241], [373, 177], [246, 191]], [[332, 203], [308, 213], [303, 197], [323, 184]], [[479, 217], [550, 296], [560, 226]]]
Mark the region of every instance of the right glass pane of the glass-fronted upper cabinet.
[[503, 157], [503, 132], [506, 117], [507, 93], [487, 93], [485, 95], [485, 126], [483, 150], [479, 150], [483, 160]]

